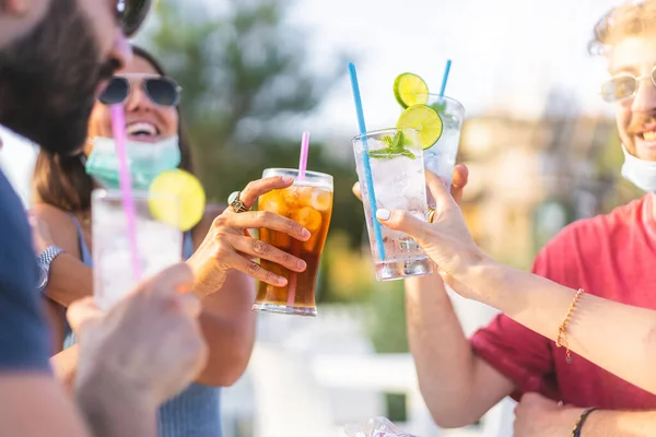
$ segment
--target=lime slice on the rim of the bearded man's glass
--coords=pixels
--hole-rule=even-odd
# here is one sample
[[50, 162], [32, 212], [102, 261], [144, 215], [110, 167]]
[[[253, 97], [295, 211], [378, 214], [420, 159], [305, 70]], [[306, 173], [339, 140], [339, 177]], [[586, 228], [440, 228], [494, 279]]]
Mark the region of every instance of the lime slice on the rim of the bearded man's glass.
[[189, 231], [204, 212], [206, 194], [196, 176], [185, 170], [159, 175], [150, 186], [149, 206], [153, 217], [181, 231]]

